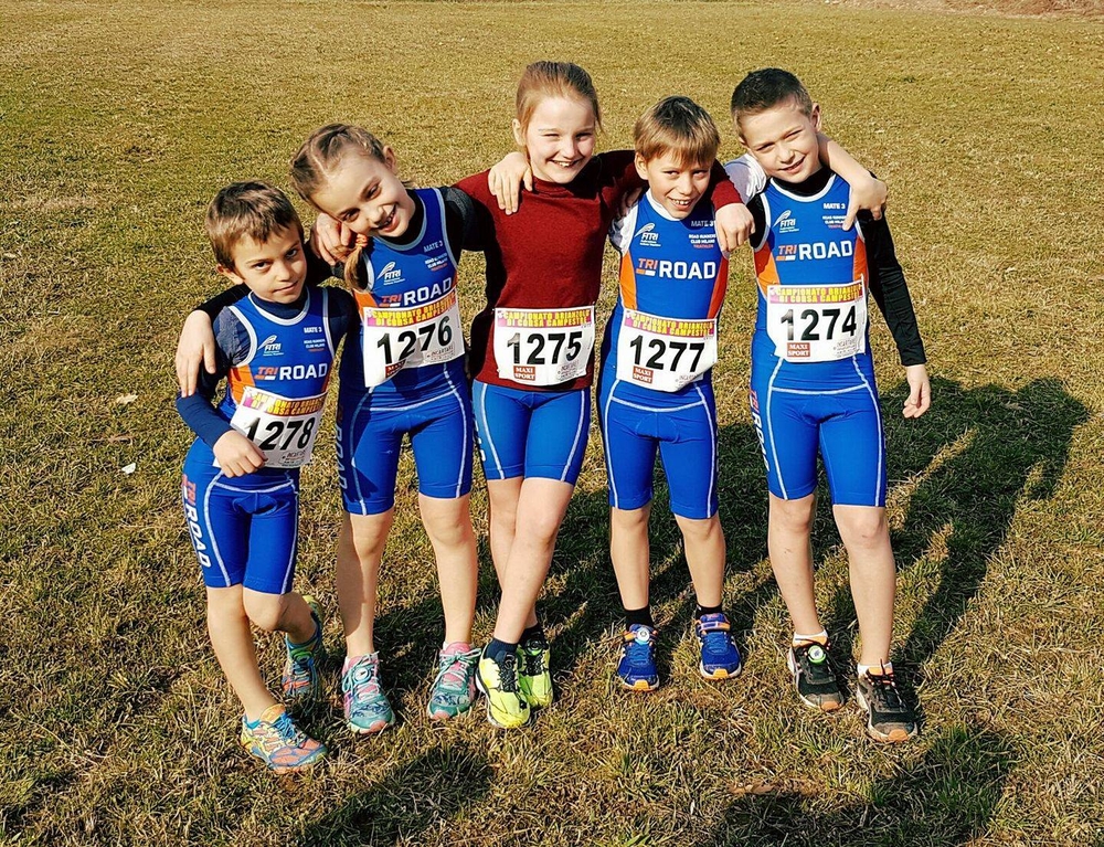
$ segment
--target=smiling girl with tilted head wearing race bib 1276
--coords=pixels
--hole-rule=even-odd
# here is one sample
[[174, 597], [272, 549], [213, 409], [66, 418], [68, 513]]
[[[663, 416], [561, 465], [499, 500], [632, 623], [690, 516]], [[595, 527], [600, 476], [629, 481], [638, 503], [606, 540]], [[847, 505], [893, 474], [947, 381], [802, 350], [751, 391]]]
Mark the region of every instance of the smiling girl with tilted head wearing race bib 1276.
[[[460, 247], [477, 241], [471, 201], [456, 189], [406, 188], [394, 151], [344, 124], [321, 127], [307, 139], [293, 159], [291, 181], [319, 220], [336, 220], [358, 237], [343, 276], [359, 320], [341, 356], [338, 392], [346, 514], [337, 591], [346, 634], [346, 718], [362, 734], [395, 720], [381, 682], [374, 624], [404, 437], [417, 468], [418, 507], [445, 616], [426, 711], [434, 720], [454, 718], [475, 699], [478, 659], [470, 644], [477, 570], [468, 506], [475, 426], [456, 292]], [[224, 305], [216, 297], [201, 309], [217, 313]], [[204, 324], [190, 317], [178, 348], [182, 382], [194, 364], [191, 352], [206, 335]]]

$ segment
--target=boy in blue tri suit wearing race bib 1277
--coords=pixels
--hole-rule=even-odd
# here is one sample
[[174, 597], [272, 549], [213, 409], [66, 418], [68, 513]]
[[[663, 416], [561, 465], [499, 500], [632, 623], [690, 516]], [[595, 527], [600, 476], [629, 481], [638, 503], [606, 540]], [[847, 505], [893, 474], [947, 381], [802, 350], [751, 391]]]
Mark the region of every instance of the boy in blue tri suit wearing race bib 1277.
[[740, 673], [721, 607], [724, 534], [718, 517], [716, 404], [712, 367], [729, 257], [718, 244], [709, 188], [720, 135], [687, 97], [668, 97], [636, 123], [636, 169], [648, 190], [614, 222], [620, 290], [606, 325], [598, 415], [609, 486], [609, 558], [625, 606], [617, 677], [659, 686], [649, 605], [648, 518], [659, 452], [693, 579], [699, 673]]

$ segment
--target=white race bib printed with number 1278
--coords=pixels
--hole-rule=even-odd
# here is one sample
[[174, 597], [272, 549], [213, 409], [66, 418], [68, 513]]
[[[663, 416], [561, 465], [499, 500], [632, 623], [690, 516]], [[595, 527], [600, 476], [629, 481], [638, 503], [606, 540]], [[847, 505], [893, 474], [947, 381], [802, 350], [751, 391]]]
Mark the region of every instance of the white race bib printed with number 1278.
[[326, 394], [288, 400], [246, 385], [230, 425], [265, 454], [265, 467], [299, 467], [310, 462], [323, 405]]

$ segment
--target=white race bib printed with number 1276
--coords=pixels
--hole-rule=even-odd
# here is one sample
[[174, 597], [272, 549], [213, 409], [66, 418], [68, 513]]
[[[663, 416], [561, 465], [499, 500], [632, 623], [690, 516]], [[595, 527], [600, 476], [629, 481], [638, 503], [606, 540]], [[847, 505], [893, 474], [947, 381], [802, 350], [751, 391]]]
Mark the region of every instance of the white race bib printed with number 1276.
[[464, 356], [455, 289], [423, 306], [361, 309], [364, 388], [375, 388], [403, 368], [443, 364]]

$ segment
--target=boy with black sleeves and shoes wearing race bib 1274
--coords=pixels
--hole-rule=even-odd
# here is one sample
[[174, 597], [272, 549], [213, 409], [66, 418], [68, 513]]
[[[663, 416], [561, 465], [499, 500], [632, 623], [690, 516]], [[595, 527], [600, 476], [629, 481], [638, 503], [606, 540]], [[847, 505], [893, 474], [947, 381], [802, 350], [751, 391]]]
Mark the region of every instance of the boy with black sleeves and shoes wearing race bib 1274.
[[872, 738], [904, 741], [916, 734], [916, 721], [889, 657], [895, 564], [867, 294], [884, 313], [905, 366], [905, 417], [931, 404], [916, 317], [884, 220], [860, 216], [858, 226], [843, 229], [850, 191], [817, 158], [820, 110], [800, 82], [777, 68], [756, 71], [736, 86], [732, 112], [741, 140], [769, 178], [749, 203], [760, 294], [751, 406], [771, 491], [771, 563], [794, 620], [789, 669], [807, 706], [840, 707], [813, 590], [819, 454], [859, 618], [856, 701]]

